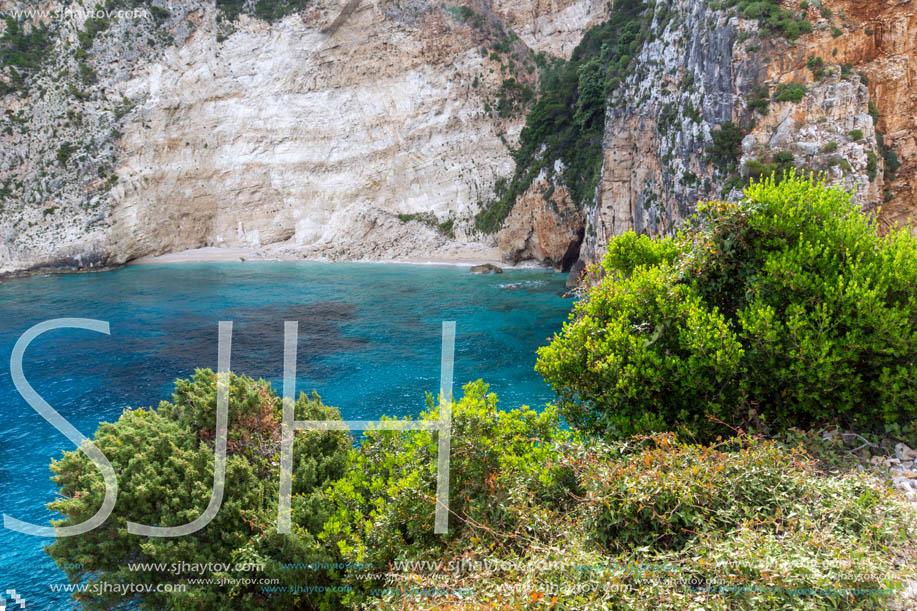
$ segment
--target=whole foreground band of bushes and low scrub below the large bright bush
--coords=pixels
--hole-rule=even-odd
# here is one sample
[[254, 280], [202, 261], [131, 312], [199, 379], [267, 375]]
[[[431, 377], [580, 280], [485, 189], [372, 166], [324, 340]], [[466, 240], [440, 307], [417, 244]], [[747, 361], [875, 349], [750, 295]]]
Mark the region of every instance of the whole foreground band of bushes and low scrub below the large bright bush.
[[[175, 524], [207, 503], [215, 397], [213, 373], [201, 371], [177, 383], [172, 403], [126, 411], [99, 427], [95, 442], [119, 474], [115, 513], [105, 527], [60, 539], [50, 552], [58, 562], [84, 563], [70, 571], [74, 580], [279, 579], [263, 589], [191, 583], [187, 593], [143, 598], [156, 609], [417, 609], [452, 601], [655, 610], [883, 609], [888, 593], [843, 589], [894, 591], [907, 570], [900, 558], [915, 551], [917, 514], [900, 497], [862, 472], [829, 476], [801, 448], [748, 436], [700, 446], [672, 434], [605, 443], [563, 430], [553, 408], [504, 412], [482, 382], [464, 390], [452, 406], [446, 536], [433, 534], [436, 438], [394, 431], [368, 433], [349, 450], [339, 433], [297, 433], [294, 528], [278, 535], [278, 400], [267, 384], [244, 377], [232, 379], [218, 517], [188, 537], [126, 535], [125, 519]], [[297, 411], [337, 417], [315, 397], [301, 396]], [[423, 417], [438, 417], [432, 400]], [[54, 471], [65, 496], [53, 507], [67, 523], [92, 513], [101, 478], [85, 456], [67, 453]], [[182, 561], [265, 569], [130, 571], [125, 564]], [[399, 568], [402, 561], [430, 564]], [[412, 576], [386, 583], [389, 572]], [[317, 589], [331, 584], [338, 590]], [[283, 591], [297, 585], [316, 590]], [[810, 587], [834, 590], [799, 590]], [[81, 600], [86, 608], [123, 601], [88, 593]]]

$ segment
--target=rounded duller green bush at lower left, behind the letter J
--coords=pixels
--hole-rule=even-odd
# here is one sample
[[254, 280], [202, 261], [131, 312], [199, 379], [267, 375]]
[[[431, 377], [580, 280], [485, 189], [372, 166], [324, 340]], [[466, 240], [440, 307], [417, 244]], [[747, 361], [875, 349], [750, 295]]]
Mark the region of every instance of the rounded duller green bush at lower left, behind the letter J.
[[[327, 584], [321, 571], [287, 571], [281, 562], [328, 562], [332, 555], [314, 535], [331, 508], [321, 490], [341, 477], [346, 467], [349, 438], [340, 432], [297, 432], [293, 463], [293, 533], [276, 531], [280, 400], [263, 380], [231, 375], [226, 486], [220, 511], [202, 530], [184, 537], [141, 538], [126, 531], [126, 522], [160, 526], [185, 524], [197, 518], [210, 500], [213, 482], [213, 437], [216, 374], [198, 370], [191, 380], [178, 380], [172, 403], [159, 408], [125, 410], [117, 422], [102, 423], [94, 443], [118, 474], [118, 500], [108, 520], [79, 537], [57, 539], [47, 548], [68, 569], [71, 581], [100, 584], [188, 583], [189, 579], [282, 577], [283, 583]], [[300, 395], [297, 419], [339, 419], [337, 410], [321, 404], [317, 395]], [[61, 497], [49, 506], [64, 519], [58, 525], [84, 521], [104, 497], [99, 472], [85, 454], [64, 452], [52, 462], [52, 478]], [[130, 570], [127, 563], [228, 563], [229, 571]], [[237, 563], [263, 564], [252, 573], [236, 570]], [[112, 591], [76, 595], [84, 609], [111, 609], [128, 602]], [[140, 600], [150, 609], [293, 608], [305, 594], [272, 593], [255, 585], [190, 585], [186, 592], [153, 592]]]

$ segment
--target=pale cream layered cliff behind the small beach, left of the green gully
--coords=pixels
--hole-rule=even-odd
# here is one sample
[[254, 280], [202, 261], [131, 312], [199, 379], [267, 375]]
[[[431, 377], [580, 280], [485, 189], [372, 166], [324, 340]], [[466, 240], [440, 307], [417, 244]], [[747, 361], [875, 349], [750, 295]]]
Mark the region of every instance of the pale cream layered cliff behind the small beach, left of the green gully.
[[350, 0], [272, 24], [143, 8], [27, 20], [50, 21], [53, 55], [2, 99], [0, 272], [204, 246], [486, 252], [471, 217], [512, 172], [532, 48], [569, 53], [604, 5]]

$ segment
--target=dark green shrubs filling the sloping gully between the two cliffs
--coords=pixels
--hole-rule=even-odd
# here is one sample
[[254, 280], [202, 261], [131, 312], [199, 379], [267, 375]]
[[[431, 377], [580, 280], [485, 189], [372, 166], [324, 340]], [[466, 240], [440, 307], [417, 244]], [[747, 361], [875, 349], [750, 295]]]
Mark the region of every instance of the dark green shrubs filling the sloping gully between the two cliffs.
[[[569, 61], [538, 60], [539, 99], [526, 116], [513, 154], [515, 172], [498, 183], [496, 199], [475, 217], [478, 230], [497, 231], [516, 198], [542, 169], [552, 173], [557, 160], [564, 168], [557, 178], [569, 188], [574, 204], [591, 200], [602, 163], [605, 101], [629, 74], [631, 58], [646, 39], [651, 6], [619, 0], [608, 21], [586, 32]], [[528, 102], [530, 96], [521, 97]]]

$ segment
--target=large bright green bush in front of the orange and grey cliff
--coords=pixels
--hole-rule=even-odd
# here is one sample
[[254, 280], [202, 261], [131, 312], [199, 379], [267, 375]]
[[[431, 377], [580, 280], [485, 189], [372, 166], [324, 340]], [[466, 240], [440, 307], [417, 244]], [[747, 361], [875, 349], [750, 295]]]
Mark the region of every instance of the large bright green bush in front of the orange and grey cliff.
[[671, 263], [609, 274], [539, 350], [568, 422], [704, 439], [718, 431], [708, 414], [774, 430], [913, 426], [917, 239], [880, 236], [849, 194], [791, 174], [742, 204], [701, 205], [678, 244]]

